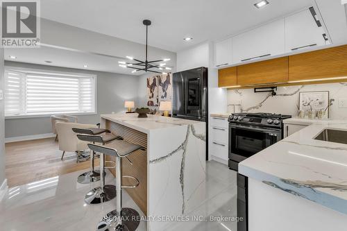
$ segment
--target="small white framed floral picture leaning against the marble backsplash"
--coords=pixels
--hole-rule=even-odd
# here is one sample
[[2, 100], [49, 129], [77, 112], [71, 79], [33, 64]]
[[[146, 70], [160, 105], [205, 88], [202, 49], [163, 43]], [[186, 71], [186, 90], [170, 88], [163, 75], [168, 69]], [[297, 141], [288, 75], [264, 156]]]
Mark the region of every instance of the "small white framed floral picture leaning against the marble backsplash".
[[324, 118], [329, 118], [329, 92], [300, 92], [299, 110], [326, 111]]

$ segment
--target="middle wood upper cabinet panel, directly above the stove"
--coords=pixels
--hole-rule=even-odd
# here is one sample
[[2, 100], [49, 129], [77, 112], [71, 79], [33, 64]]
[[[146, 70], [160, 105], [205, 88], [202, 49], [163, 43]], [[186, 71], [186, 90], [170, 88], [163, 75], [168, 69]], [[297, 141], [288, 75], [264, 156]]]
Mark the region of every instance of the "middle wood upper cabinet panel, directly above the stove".
[[288, 81], [288, 57], [254, 62], [237, 67], [237, 85], [286, 83]]

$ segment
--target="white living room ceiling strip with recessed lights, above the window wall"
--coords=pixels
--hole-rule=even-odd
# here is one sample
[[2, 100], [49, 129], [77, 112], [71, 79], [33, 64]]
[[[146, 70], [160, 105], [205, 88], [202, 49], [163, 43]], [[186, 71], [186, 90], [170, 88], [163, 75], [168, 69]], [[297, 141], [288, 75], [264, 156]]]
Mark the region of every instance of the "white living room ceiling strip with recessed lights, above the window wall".
[[[10, 55], [14, 55], [17, 58], [12, 60], [9, 57]], [[44, 46], [35, 49], [4, 49], [4, 58], [9, 61], [28, 62], [37, 65], [68, 67], [130, 75], [144, 74], [144, 71], [139, 71], [133, 74], [131, 73], [131, 69], [119, 67], [119, 59], [117, 58]], [[49, 60], [51, 63], [46, 63], [44, 62], [45, 60]], [[87, 65], [88, 67], [84, 68], [83, 65]]]

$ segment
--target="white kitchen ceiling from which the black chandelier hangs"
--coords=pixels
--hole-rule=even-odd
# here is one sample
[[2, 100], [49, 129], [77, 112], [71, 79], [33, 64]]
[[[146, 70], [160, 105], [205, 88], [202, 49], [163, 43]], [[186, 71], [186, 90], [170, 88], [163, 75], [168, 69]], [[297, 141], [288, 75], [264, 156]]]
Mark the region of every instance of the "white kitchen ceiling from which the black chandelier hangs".
[[[145, 42], [143, 19], [151, 19], [149, 44], [180, 51], [206, 40], [218, 40], [311, 6], [312, 0], [41, 0], [41, 16], [56, 22]], [[185, 42], [184, 37], [193, 37]]]

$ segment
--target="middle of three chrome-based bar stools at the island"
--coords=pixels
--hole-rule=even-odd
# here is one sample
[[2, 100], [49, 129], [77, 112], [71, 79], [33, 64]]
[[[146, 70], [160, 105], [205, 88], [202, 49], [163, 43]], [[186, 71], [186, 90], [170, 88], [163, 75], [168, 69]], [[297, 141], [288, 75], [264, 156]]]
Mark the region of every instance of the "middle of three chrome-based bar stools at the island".
[[[109, 141], [109, 139], [112, 138], [112, 140], [115, 140], [115, 137], [117, 139], [122, 139], [119, 136], [115, 136], [112, 134], [107, 134], [105, 135], [77, 135], [78, 139], [81, 139], [82, 141], [85, 142], [92, 142], [93, 144], [99, 143], [99, 144], [106, 144]], [[92, 151], [95, 153], [94, 151]], [[90, 205], [95, 205], [95, 204], [100, 204], [107, 202], [109, 200], [112, 200], [113, 198], [116, 197], [116, 187], [115, 185], [105, 185], [105, 169], [111, 168], [111, 167], [106, 167], [105, 166], [105, 154], [101, 153], [100, 154], [100, 172], [103, 173], [100, 176], [100, 187], [96, 187], [89, 191], [85, 195], [85, 202]], [[108, 161], [112, 162], [115, 164], [113, 161]]]

